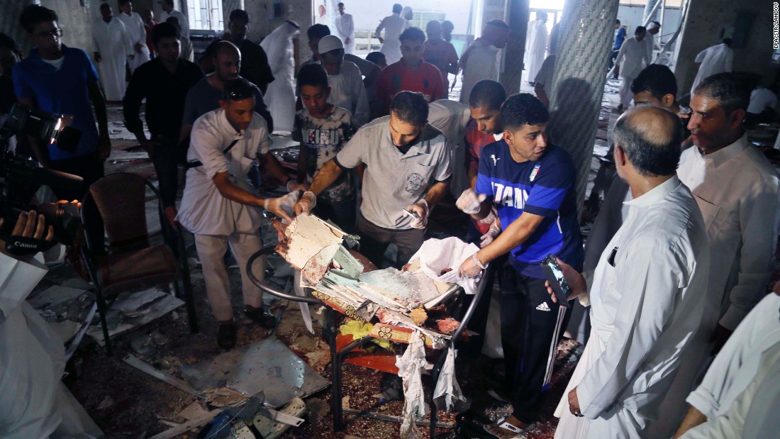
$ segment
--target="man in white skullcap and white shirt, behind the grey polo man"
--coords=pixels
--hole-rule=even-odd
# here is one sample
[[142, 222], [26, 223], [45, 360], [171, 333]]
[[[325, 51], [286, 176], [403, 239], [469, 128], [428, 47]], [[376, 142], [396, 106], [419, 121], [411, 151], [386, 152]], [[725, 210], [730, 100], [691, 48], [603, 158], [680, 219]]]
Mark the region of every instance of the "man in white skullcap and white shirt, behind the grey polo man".
[[322, 67], [328, 72], [331, 86], [328, 102], [349, 110], [356, 126], [363, 126], [368, 122], [371, 108], [360, 69], [352, 62], [344, 61], [344, 44], [335, 35], [322, 37], [317, 51]]

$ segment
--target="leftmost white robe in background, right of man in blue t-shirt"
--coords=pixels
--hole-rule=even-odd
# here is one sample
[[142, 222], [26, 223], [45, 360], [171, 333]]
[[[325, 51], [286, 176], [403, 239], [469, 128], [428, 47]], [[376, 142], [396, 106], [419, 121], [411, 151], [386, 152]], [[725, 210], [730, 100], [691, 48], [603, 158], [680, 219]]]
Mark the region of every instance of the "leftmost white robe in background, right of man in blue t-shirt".
[[101, 55], [97, 63], [106, 101], [122, 101], [127, 87], [125, 64], [133, 50], [125, 25], [119, 19], [108, 23], [99, 19], [92, 26], [94, 49]]

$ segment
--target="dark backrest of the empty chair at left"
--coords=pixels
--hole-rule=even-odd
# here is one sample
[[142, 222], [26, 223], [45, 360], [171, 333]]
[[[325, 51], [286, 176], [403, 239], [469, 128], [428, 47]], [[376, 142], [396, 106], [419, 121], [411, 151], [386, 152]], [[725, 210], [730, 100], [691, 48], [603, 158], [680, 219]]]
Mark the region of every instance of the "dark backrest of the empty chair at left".
[[90, 196], [100, 211], [112, 249], [149, 245], [146, 179], [136, 174], [109, 174], [92, 183]]

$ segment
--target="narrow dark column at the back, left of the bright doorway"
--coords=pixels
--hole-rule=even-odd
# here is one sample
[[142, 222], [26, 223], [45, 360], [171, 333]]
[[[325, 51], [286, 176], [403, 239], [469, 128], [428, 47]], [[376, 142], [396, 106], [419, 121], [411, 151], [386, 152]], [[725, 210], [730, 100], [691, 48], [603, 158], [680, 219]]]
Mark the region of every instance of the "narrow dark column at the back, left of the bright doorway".
[[526, 53], [526, 36], [530, 15], [528, 0], [511, 0], [509, 2], [509, 43], [506, 44], [503, 69], [499, 80], [506, 89], [506, 94], [519, 93], [520, 81], [523, 77], [523, 58]]

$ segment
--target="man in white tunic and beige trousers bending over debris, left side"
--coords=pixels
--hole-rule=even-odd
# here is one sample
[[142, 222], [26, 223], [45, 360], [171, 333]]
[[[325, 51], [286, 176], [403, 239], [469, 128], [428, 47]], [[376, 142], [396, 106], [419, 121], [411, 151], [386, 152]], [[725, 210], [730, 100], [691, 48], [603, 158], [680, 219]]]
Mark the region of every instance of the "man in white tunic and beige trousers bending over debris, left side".
[[[222, 259], [228, 244], [241, 271], [246, 317], [272, 327], [274, 318], [263, 309], [263, 292], [247, 276], [246, 261], [262, 246], [257, 232], [262, 209], [289, 220], [282, 207], [292, 212], [296, 198], [296, 192], [261, 198], [246, 178], [258, 154], [268, 153], [270, 144], [265, 120], [254, 112], [256, 89], [243, 78], [226, 81], [220, 108], [195, 121], [187, 152], [186, 186], [176, 215], [176, 221], [195, 235], [222, 349], [236, 345], [228, 272]], [[262, 279], [264, 260], [256, 265], [254, 273]]]

